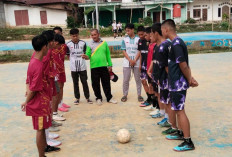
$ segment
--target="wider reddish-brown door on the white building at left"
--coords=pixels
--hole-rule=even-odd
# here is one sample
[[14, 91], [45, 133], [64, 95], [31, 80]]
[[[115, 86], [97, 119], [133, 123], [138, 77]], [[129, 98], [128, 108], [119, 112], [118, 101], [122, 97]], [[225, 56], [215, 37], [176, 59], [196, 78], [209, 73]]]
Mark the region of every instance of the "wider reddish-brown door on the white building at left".
[[29, 25], [28, 10], [15, 10], [16, 26]]

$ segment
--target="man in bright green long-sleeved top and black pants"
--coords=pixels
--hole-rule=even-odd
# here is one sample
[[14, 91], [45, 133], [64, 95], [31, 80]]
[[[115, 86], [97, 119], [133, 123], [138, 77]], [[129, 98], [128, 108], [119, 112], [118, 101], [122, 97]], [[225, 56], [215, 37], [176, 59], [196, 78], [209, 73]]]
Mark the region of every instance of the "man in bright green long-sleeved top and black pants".
[[91, 30], [93, 39], [87, 46], [86, 54], [82, 54], [84, 59], [90, 59], [91, 80], [94, 94], [98, 105], [102, 105], [102, 95], [100, 81], [108, 103], [116, 104], [111, 94], [110, 74], [112, 72], [112, 61], [110, 50], [106, 41], [100, 38], [97, 29]]

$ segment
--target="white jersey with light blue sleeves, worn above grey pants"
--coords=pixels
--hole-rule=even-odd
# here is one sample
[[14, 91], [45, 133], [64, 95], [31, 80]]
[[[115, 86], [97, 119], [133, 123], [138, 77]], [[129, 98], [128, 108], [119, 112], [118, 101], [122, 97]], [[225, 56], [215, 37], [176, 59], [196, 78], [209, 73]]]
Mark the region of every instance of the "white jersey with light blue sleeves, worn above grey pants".
[[[135, 57], [138, 54], [138, 43], [139, 43], [139, 37], [135, 36], [133, 39], [131, 39], [129, 36], [126, 36], [122, 40], [122, 46], [121, 50], [125, 50], [127, 55], [130, 57], [130, 59], [134, 60]], [[137, 60], [134, 67], [139, 67], [140, 59]], [[124, 57], [123, 59], [123, 67], [130, 67], [129, 61]]]

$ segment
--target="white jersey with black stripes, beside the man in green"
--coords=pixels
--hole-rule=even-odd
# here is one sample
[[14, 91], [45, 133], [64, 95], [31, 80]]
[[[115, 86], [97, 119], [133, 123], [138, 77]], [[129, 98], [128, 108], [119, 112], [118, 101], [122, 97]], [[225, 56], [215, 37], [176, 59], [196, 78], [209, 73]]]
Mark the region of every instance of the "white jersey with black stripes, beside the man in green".
[[70, 70], [74, 72], [86, 70], [86, 61], [81, 56], [86, 53], [86, 43], [82, 40], [79, 40], [77, 43], [69, 41], [67, 43], [67, 47], [67, 55], [69, 55], [70, 60]]

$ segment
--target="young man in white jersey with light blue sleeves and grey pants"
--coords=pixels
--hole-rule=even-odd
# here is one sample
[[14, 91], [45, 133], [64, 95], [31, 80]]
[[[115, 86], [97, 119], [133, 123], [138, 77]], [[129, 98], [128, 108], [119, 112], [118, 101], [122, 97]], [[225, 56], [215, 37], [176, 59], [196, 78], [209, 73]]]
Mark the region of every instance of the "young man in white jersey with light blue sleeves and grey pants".
[[138, 101], [142, 102], [143, 97], [141, 96], [141, 79], [139, 71], [140, 63], [140, 53], [138, 52], [138, 42], [139, 37], [134, 33], [134, 24], [128, 23], [125, 27], [126, 36], [122, 40], [121, 50], [123, 51], [123, 97], [122, 102], [127, 101], [127, 95], [129, 92], [129, 82], [131, 77], [131, 72], [134, 73], [134, 78], [136, 81]]

